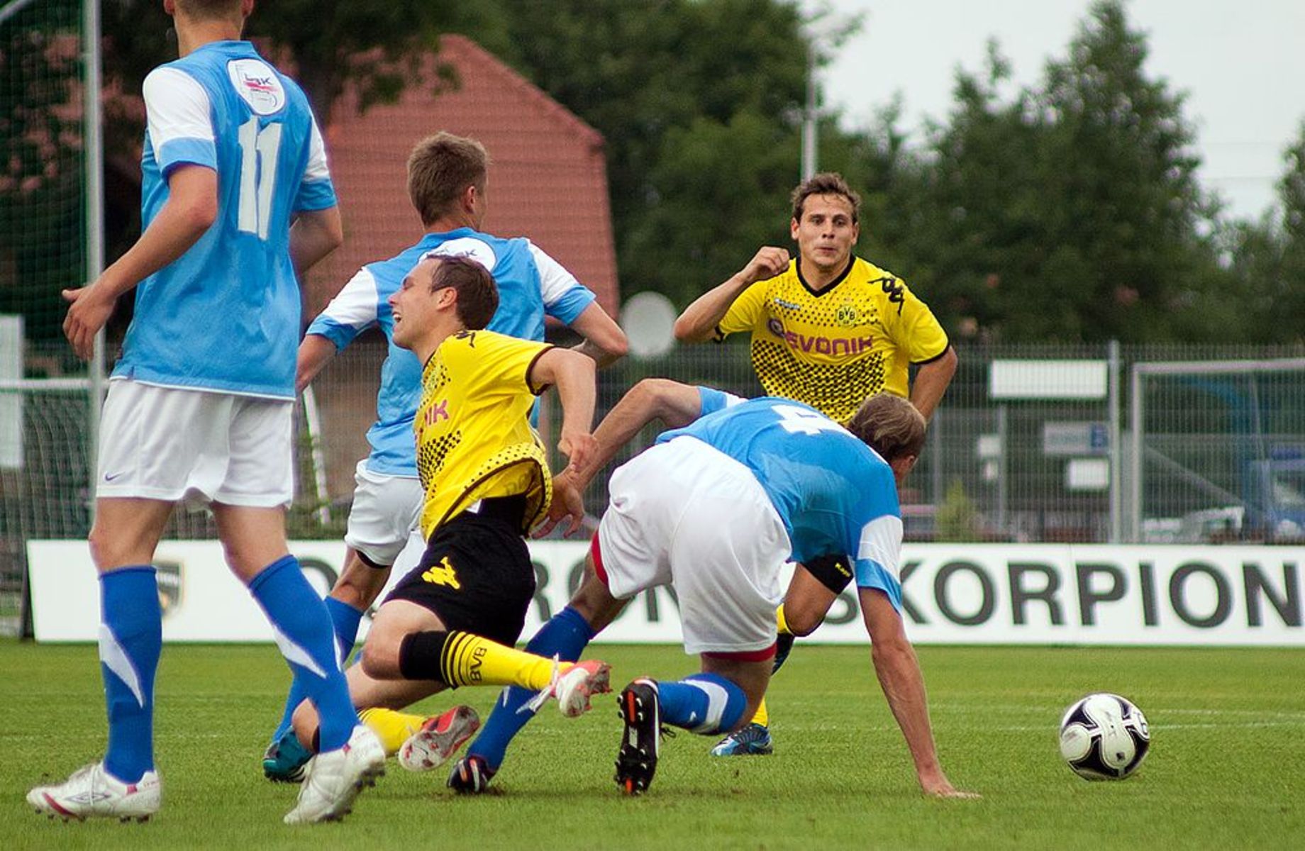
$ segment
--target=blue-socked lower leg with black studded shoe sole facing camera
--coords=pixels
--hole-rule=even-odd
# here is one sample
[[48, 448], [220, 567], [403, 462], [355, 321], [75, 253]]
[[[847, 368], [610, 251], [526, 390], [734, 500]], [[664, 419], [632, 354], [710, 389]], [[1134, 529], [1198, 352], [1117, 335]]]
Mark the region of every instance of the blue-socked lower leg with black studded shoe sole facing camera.
[[662, 750], [662, 724], [714, 736], [739, 724], [748, 697], [718, 673], [694, 673], [673, 683], [641, 677], [617, 701], [625, 730], [616, 754], [616, 786], [639, 795], [652, 783]]

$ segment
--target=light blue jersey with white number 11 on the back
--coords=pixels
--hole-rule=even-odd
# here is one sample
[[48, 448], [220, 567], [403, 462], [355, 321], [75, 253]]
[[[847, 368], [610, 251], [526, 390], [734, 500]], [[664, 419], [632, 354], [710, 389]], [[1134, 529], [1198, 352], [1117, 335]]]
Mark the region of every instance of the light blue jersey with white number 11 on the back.
[[335, 206], [308, 99], [248, 42], [213, 42], [145, 80], [141, 219], [149, 227], [183, 164], [218, 174], [218, 217], [136, 288], [115, 377], [294, 398], [299, 283], [295, 213]]

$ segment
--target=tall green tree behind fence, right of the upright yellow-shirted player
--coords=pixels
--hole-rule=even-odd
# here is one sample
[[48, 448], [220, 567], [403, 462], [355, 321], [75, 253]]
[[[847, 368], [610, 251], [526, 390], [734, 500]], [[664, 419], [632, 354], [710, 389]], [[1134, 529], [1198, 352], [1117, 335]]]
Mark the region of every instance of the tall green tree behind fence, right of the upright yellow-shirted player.
[[1193, 339], [1227, 286], [1216, 208], [1184, 98], [1146, 73], [1143, 34], [1096, 3], [1037, 87], [1002, 99], [1006, 63], [960, 73], [908, 235], [950, 326], [1007, 341]]

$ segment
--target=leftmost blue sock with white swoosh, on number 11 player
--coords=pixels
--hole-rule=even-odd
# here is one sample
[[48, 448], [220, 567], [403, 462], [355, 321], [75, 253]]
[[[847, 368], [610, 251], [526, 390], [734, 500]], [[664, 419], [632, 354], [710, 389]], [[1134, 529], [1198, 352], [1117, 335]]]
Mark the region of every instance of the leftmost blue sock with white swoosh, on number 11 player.
[[154, 769], [154, 672], [163, 613], [153, 565], [99, 574], [99, 663], [108, 706], [104, 769], [134, 783]]

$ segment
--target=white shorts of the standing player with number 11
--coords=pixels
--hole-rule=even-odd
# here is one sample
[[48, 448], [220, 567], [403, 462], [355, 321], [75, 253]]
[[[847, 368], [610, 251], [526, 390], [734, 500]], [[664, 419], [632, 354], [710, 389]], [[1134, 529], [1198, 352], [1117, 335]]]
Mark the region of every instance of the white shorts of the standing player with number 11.
[[294, 402], [114, 379], [97, 497], [275, 508], [294, 497]]

